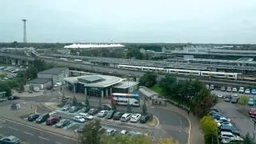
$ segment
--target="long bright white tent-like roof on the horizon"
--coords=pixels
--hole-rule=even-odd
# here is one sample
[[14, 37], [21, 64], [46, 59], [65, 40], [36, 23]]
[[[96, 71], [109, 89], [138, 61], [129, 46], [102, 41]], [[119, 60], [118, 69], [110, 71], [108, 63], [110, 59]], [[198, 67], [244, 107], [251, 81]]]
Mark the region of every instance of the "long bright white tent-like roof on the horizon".
[[124, 47], [121, 44], [72, 44], [69, 46], [64, 46], [64, 48], [66, 49], [78, 49], [78, 48], [82, 48], [82, 49], [86, 49], [86, 48], [103, 48], [103, 47]]

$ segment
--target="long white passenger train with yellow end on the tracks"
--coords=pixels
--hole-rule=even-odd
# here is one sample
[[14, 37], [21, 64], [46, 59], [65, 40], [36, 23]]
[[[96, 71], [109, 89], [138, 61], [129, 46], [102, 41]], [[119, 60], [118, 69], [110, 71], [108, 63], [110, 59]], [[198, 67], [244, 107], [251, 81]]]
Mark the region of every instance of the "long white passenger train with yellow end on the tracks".
[[214, 72], [214, 71], [202, 71], [202, 70], [181, 70], [181, 69], [169, 69], [163, 67], [151, 67], [151, 66], [131, 66], [131, 65], [118, 65], [118, 68], [130, 69], [130, 70], [143, 70], [143, 71], [159, 71], [168, 74], [178, 75], [193, 75], [198, 77], [208, 78], [226, 78], [226, 79], [240, 79], [241, 73], [226, 73], [226, 72]]

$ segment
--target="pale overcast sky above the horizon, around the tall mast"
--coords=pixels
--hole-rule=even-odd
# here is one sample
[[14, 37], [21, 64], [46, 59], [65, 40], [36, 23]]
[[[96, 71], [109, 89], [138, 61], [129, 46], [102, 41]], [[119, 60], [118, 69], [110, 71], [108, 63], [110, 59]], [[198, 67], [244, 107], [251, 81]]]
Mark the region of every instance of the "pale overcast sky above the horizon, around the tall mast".
[[256, 43], [256, 0], [1, 0], [0, 42]]

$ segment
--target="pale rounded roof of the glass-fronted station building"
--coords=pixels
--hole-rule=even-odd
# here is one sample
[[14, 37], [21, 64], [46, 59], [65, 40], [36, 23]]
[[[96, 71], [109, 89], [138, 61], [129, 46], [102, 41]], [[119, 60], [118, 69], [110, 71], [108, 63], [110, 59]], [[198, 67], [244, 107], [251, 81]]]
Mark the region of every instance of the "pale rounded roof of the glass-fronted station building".
[[[84, 79], [84, 78], [90, 78], [90, 77], [100, 77], [102, 78], [102, 81], [96, 81], [96, 82], [81, 82], [79, 79]], [[108, 87], [108, 86], [113, 86], [115, 84], [118, 84], [119, 82], [122, 82], [122, 78], [110, 76], [110, 75], [99, 75], [99, 74], [94, 74], [94, 75], [86, 75], [86, 76], [80, 76], [80, 77], [70, 77], [70, 78], [64, 78], [64, 81], [70, 82], [72, 84], [74, 83], [81, 83], [84, 86], [88, 87]]]

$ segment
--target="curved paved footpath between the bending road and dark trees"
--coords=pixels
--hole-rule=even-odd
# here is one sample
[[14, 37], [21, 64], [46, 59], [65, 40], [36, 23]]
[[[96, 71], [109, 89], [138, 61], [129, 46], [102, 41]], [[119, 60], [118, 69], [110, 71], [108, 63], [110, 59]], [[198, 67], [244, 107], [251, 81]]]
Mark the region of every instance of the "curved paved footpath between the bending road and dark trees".
[[[200, 119], [193, 115], [192, 113], [188, 114], [186, 110], [182, 110], [178, 108], [177, 106], [171, 105], [170, 103], [167, 103], [166, 108], [170, 110], [174, 110], [175, 112], [178, 112], [178, 114], [184, 115], [186, 118], [190, 119], [190, 136], [189, 138], [191, 144], [204, 144], [204, 138], [202, 134], [202, 130], [199, 129], [199, 121]], [[161, 121], [161, 120], [160, 120]], [[188, 143], [189, 144], [189, 143]]]

